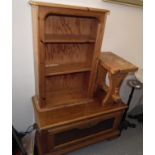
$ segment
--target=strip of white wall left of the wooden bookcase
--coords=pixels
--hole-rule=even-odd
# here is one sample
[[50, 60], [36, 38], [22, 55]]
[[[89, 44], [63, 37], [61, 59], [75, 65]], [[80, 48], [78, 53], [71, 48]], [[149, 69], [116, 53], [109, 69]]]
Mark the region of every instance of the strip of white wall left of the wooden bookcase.
[[13, 1], [13, 125], [25, 130], [33, 122], [33, 44], [30, 6]]

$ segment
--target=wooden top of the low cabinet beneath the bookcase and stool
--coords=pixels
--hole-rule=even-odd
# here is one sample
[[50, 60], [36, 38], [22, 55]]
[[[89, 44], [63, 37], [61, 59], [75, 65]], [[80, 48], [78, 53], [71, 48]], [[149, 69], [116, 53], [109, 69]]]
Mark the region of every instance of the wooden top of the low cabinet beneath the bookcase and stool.
[[78, 106], [39, 112], [36, 108], [37, 100], [33, 97], [33, 106], [39, 129], [54, 128], [69, 123], [95, 118], [104, 114], [117, 112], [127, 108], [126, 104], [115, 103], [110, 107], [103, 107], [99, 102], [89, 102]]

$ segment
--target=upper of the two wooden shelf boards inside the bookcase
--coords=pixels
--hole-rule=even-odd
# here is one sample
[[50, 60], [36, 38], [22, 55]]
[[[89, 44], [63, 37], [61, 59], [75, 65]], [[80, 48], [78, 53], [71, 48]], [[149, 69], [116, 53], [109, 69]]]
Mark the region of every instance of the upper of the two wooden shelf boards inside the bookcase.
[[55, 34], [45, 34], [44, 43], [93, 43], [95, 38], [88, 35], [55, 35]]

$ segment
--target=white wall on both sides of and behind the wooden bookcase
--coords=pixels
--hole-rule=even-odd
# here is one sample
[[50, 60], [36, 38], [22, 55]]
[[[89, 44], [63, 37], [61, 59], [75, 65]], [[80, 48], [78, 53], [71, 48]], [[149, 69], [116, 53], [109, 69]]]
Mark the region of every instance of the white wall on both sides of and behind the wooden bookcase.
[[[46, 0], [47, 1], [47, 0]], [[102, 0], [48, 0], [55, 3], [109, 9], [102, 50], [113, 51], [142, 68], [141, 8]], [[130, 77], [129, 77], [130, 78]], [[124, 82], [121, 96], [126, 102], [130, 89]], [[25, 0], [13, 1], [13, 125], [25, 130], [33, 123], [34, 65], [31, 8]], [[136, 92], [135, 103], [142, 92]], [[132, 103], [133, 104], [133, 103]]]

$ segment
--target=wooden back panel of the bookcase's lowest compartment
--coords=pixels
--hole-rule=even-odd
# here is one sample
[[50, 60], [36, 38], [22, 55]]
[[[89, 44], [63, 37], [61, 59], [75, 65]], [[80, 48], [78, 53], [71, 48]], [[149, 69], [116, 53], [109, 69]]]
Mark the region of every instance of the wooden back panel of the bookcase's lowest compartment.
[[88, 89], [90, 72], [56, 75], [46, 78], [46, 92]]

